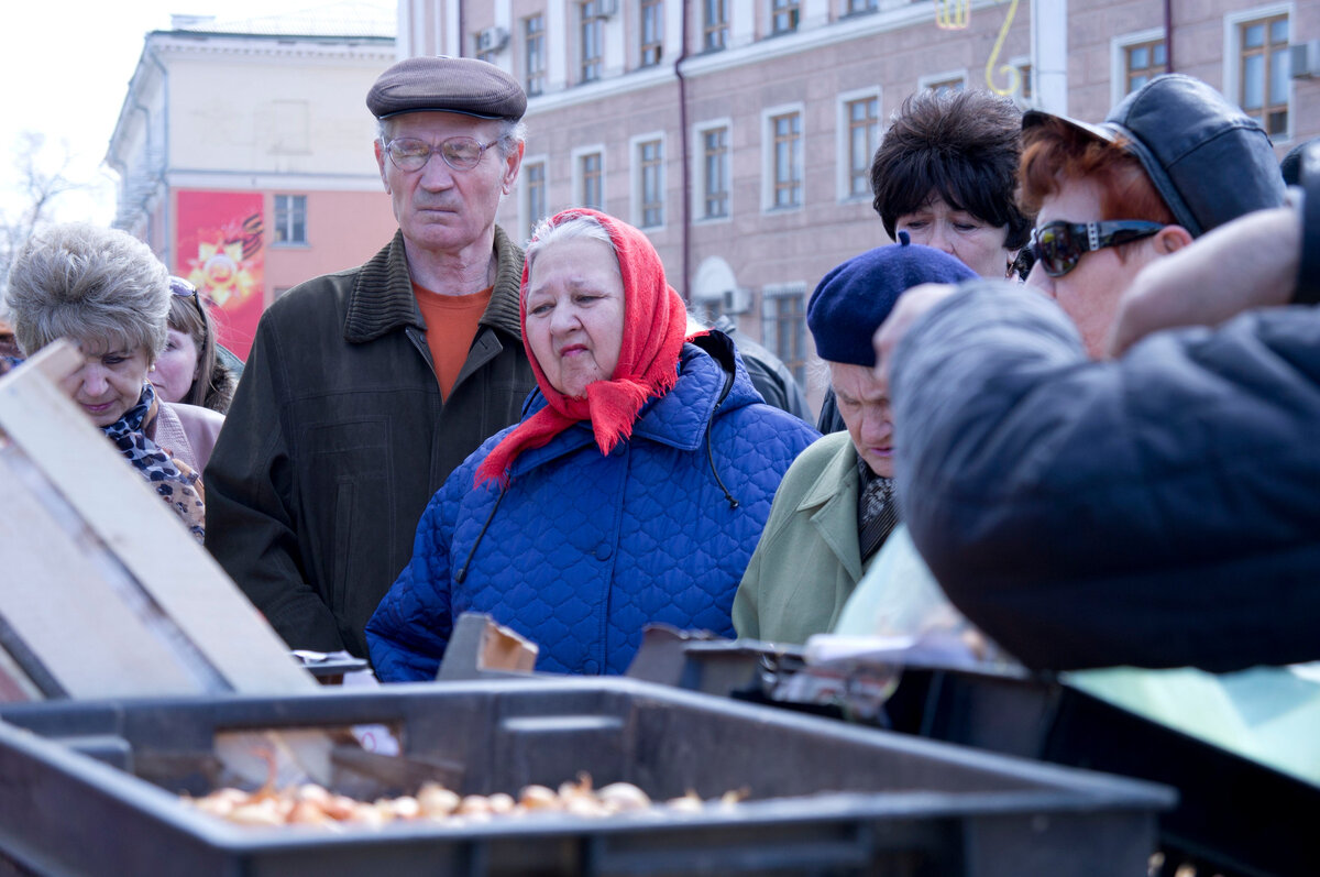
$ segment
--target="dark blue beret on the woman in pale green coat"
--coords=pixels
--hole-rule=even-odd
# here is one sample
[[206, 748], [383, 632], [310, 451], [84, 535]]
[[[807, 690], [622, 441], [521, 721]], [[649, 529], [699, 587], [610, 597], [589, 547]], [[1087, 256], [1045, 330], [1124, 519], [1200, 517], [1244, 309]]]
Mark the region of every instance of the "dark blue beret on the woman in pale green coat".
[[962, 283], [975, 277], [965, 264], [932, 247], [899, 243], [867, 250], [830, 271], [807, 305], [807, 328], [816, 355], [829, 362], [874, 366], [871, 335], [894, 309], [899, 296], [923, 283]]

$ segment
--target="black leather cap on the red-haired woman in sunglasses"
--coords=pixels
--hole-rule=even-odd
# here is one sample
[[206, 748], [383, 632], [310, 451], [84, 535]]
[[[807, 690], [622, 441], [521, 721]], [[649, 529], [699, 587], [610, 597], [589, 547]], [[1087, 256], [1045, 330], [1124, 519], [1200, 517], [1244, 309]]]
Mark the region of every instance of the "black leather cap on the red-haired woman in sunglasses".
[[1200, 79], [1179, 73], [1155, 77], [1098, 125], [1031, 110], [1022, 127], [1049, 118], [1137, 156], [1177, 225], [1193, 238], [1283, 203], [1279, 160], [1265, 129]]

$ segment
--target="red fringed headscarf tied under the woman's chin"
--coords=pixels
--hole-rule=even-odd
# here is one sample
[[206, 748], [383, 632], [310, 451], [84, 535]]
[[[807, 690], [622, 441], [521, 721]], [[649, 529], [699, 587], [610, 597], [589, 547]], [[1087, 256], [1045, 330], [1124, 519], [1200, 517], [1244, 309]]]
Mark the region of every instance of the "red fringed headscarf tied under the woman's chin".
[[[550, 218], [550, 227], [576, 217], [591, 217], [610, 232], [623, 279], [623, 342], [610, 380], [587, 384], [586, 398], [565, 396], [550, 386], [541, 363], [527, 342], [527, 280], [523, 267], [519, 316], [523, 346], [532, 362], [536, 383], [549, 404], [504, 436], [477, 470], [475, 483], [499, 479], [508, 483], [508, 469], [524, 450], [541, 448], [579, 420], [590, 420], [602, 454], [632, 435], [632, 424], [647, 399], [669, 392], [678, 380], [678, 353], [686, 338], [688, 316], [682, 298], [664, 279], [664, 264], [644, 234], [614, 217], [585, 207], [564, 210]], [[553, 244], [552, 244], [553, 246]]]

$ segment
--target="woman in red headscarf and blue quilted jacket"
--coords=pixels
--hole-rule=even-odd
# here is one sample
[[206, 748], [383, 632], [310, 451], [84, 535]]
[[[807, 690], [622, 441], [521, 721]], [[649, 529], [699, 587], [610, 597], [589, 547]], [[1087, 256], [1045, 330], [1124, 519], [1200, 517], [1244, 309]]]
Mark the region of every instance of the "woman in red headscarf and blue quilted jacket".
[[367, 625], [385, 682], [433, 679], [463, 612], [554, 672], [623, 672], [652, 622], [733, 635], [775, 489], [818, 435], [762, 402], [727, 338], [685, 337], [660, 256], [612, 217], [537, 228], [521, 320], [537, 390], [426, 507]]

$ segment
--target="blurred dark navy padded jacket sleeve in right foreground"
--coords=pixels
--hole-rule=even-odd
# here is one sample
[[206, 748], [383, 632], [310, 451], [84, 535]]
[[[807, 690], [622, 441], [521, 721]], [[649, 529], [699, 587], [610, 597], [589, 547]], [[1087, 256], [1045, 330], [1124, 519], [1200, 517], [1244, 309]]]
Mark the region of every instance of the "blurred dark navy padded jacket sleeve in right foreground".
[[1320, 658], [1320, 309], [1090, 362], [1043, 296], [969, 283], [891, 376], [912, 540], [1026, 664]]

